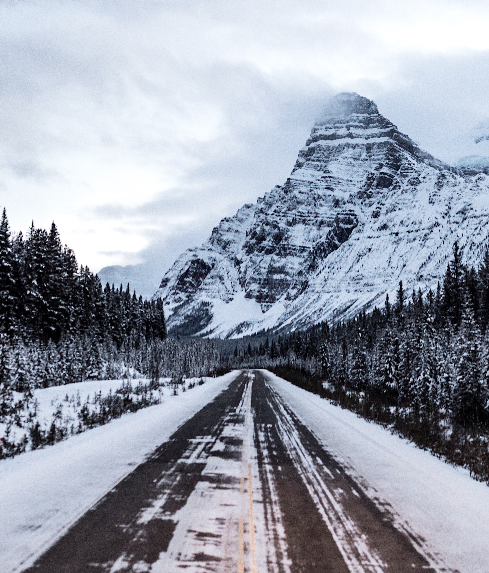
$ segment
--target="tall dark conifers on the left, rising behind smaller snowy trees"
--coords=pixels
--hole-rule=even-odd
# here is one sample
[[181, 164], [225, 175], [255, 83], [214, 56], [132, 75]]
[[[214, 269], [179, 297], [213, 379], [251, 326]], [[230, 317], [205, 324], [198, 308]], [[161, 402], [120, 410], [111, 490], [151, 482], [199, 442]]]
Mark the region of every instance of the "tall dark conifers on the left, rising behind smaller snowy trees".
[[105, 288], [87, 266], [61, 244], [56, 225], [48, 233], [32, 223], [27, 236], [10, 236], [5, 209], [0, 222], [0, 332], [23, 340], [59, 343], [88, 335], [112, 340], [120, 348], [129, 337], [166, 336], [163, 302]]

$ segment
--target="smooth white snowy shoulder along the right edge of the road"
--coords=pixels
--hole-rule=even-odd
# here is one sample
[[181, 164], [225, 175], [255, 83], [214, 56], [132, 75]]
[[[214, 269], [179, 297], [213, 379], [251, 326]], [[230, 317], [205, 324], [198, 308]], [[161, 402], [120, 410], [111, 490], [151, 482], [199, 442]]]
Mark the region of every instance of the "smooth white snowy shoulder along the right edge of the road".
[[462, 573], [489, 571], [489, 488], [375, 423], [266, 372], [274, 388], [396, 525]]

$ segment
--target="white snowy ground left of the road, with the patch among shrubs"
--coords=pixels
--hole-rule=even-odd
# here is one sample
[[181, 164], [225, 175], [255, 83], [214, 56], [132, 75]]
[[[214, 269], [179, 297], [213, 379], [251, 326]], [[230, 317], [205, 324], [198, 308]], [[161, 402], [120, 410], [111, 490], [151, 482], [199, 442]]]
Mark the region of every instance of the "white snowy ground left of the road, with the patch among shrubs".
[[[19, 571], [184, 421], [230, 384], [237, 372], [185, 393], [163, 390], [162, 403], [44, 449], [0, 461], [0, 571]], [[187, 386], [191, 380], [187, 381]], [[137, 383], [137, 380], [135, 381]], [[121, 380], [83, 382], [36, 391], [40, 410], [80, 391], [116, 390]], [[73, 388], [72, 388], [73, 387]]]

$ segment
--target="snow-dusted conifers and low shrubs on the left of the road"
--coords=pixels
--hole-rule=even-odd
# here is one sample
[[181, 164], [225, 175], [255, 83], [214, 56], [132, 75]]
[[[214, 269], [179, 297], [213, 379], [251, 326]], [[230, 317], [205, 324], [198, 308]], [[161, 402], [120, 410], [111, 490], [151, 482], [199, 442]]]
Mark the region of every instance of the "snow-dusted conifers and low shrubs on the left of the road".
[[[162, 384], [212, 375], [219, 355], [207, 340], [167, 337], [163, 302], [105, 285], [78, 267], [56, 225], [31, 225], [11, 237], [0, 222], [0, 458], [53, 444], [160, 401]], [[84, 380], [121, 380], [115, 393], [80, 395], [58, 405], [52, 422], [38, 417], [37, 388]], [[134, 380], [138, 380], [134, 383]], [[78, 393], [79, 394], [79, 393]], [[63, 407], [75, 413], [68, 418]]]

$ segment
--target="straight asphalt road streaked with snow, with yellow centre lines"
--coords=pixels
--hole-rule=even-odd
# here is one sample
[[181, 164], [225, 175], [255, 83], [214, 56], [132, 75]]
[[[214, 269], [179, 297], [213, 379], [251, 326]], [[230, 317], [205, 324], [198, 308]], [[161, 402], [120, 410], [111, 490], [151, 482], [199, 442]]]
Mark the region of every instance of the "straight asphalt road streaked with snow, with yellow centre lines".
[[434, 571], [261, 371], [213, 402], [26, 571]]

